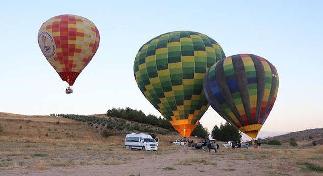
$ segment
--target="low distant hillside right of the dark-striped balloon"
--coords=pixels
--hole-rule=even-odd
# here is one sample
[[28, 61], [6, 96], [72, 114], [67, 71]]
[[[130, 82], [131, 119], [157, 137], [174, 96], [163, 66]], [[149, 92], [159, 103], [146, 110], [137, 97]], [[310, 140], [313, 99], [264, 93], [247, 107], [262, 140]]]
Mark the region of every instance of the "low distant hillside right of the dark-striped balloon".
[[298, 132], [291, 132], [284, 135], [268, 137], [264, 140], [269, 141], [277, 139], [282, 143], [288, 143], [291, 138], [294, 138], [297, 142], [301, 142], [302, 146], [313, 146], [313, 142], [317, 145], [323, 144], [323, 128], [307, 129]]

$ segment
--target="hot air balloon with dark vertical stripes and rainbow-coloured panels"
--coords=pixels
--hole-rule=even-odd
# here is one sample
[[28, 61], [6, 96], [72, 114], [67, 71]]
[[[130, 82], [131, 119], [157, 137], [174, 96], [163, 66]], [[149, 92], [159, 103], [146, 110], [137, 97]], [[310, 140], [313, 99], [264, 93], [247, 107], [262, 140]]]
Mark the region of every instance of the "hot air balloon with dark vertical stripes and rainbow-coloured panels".
[[209, 104], [225, 120], [256, 138], [273, 108], [278, 73], [266, 59], [252, 54], [229, 56], [214, 64], [203, 81]]

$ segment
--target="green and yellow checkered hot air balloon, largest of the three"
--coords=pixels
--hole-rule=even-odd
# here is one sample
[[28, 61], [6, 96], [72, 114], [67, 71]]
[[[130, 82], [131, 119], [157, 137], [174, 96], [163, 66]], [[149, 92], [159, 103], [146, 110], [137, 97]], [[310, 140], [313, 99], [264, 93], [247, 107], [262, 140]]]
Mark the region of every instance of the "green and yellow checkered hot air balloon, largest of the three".
[[183, 137], [189, 137], [209, 107], [203, 93], [204, 75], [223, 58], [221, 46], [212, 38], [174, 31], [139, 49], [134, 75], [148, 101]]

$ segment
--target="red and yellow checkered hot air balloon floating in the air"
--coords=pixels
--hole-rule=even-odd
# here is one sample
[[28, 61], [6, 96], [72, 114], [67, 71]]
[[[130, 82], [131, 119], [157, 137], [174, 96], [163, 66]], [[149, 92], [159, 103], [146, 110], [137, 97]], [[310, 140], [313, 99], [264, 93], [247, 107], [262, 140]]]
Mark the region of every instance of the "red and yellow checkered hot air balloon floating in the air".
[[91, 61], [99, 43], [100, 34], [93, 22], [77, 15], [50, 18], [38, 32], [44, 56], [69, 86]]

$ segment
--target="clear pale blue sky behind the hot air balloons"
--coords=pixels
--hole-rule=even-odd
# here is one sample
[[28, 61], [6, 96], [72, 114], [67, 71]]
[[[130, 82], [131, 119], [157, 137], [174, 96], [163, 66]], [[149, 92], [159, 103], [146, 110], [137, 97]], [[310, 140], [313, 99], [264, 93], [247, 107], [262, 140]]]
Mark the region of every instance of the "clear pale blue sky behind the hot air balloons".
[[[226, 56], [255, 54], [277, 68], [277, 100], [261, 130], [322, 128], [322, 9], [322, 0], [1, 1], [0, 112], [91, 115], [130, 107], [161, 116], [136, 84], [134, 59], [150, 39], [189, 30], [216, 40]], [[43, 22], [62, 14], [88, 18], [101, 37], [72, 94], [37, 42]], [[209, 107], [200, 122], [211, 131], [225, 120]]]

